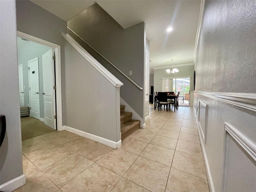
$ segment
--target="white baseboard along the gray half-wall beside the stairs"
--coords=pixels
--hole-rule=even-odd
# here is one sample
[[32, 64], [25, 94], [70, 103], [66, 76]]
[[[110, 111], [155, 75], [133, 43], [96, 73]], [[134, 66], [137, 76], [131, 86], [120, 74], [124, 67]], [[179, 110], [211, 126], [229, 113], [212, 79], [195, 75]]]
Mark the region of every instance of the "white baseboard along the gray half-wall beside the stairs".
[[62, 129], [66, 130], [68, 132], [80, 135], [82, 137], [94, 140], [96, 142], [102, 143], [104, 145], [110, 146], [110, 147], [115, 148], [115, 149], [120, 148], [120, 146], [122, 145], [122, 140], [119, 140], [118, 142], [114, 142], [114, 141], [108, 140], [106, 138], [96, 136], [96, 135], [93, 135], [93, 134], [90, 134], [90, 133], [87, 133], [87, 132], [84, 132], [84, 131], [81, 131], [81, 130], [78, 130], [78, 129], [75, 129], [75, 128], [72, 128], [72, 127], [68, 127], [68, 126], [65, 126], [65, 125], [63, 126]]

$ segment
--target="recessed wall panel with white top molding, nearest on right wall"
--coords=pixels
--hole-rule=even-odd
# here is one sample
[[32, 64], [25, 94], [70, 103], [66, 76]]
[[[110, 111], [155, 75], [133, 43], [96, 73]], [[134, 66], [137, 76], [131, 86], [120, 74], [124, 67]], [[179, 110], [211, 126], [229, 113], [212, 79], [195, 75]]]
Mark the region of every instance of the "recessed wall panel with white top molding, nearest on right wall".
[[224, 128], [222, 191], [255, 192], [256, 144], [226, 122]]

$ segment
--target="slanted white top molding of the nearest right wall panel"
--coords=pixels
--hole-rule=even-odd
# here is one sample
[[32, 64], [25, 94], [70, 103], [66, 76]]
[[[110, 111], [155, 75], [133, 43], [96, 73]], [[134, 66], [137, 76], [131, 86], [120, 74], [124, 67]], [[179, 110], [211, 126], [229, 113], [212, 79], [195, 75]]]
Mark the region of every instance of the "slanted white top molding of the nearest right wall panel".
[[236, 128], [230, 126], [228, 123], [224, 123], [225, 130], [240, 144], [246, 152], [256, 161], [256, 144], [248, 140], [243, 134], [241, 134]]

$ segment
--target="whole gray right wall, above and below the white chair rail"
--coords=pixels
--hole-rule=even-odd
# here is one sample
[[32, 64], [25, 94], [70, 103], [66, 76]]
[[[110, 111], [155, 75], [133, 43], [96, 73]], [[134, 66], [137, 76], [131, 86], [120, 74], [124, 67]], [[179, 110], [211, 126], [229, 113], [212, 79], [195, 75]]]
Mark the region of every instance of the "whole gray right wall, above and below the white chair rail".
[[[196, 91], [256, 94], [256, 4], [250, 0], [205, 2], [196, 56]], [[256, 145], [256, 113], [195, 94], [208, 104], [204, 148], [216, 192], [254, 192], [256, 162], [230, 135], [224, 122]], [[246, 96], [246, 94], [244, 95]], [[254, 97], [255, 105], [255, 97]], [[226, 171], [222, 169], [224, 144]]]

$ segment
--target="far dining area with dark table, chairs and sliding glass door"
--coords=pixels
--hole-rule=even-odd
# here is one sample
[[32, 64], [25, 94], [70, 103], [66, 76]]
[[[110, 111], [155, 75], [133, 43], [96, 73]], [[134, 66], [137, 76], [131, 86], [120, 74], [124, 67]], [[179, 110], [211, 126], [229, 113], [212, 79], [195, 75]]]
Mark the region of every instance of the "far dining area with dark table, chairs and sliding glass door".
[[[154, 82], [154, 109], [176, 111], [179, 107], [193, 106], [194, 98], [194, 64], [177, 64], [175, 74], [168, 74], [169, 66], [153, 68], [150, 81]], [[164, 104], [159, 105], [158, 93], [167, 94], [164, 96]], [[166, 103], [167, 102], [167, 103]], [[168, 108], [166, 107], [168, 106]]]

